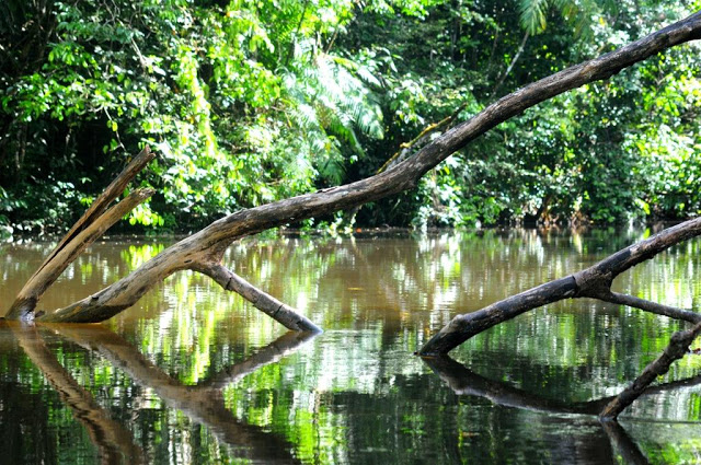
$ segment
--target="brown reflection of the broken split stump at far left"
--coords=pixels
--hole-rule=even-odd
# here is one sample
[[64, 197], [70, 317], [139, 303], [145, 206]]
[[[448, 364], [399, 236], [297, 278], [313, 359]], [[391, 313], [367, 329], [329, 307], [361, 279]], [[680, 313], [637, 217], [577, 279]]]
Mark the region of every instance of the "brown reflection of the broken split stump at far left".
[[112, 420], [92, 395], [76, 382], [46, 347], [36, 328], [20, 325], [11, 325], [11, 328], [27, 357], [42, 370], [61, 400], [73, 411], [76, 419], [85, 427], [100, 451], [102, 463], [145, 463], [143, 451], [134, 443], [131, 433]]

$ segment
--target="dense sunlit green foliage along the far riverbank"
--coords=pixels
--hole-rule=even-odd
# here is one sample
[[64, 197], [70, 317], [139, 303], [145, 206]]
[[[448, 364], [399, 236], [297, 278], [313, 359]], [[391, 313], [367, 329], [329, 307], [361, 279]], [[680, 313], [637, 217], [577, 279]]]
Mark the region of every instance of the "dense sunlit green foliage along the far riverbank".
[[[140, 183], [159, 195], [133, 212], [140, 228], [187, 230], [354, 181], [422, 131], [425, 143], [447, 127], [432, 125], [464, 120], [699, 8], [10, 0], [0, 5], [0, 228], [66, 228], [146, 143], [159, 160]], [[357, 221], [698, 214], [698, 45], [678, 47], [541, 104], [444, 162], [415, 191], [361, 209]]]

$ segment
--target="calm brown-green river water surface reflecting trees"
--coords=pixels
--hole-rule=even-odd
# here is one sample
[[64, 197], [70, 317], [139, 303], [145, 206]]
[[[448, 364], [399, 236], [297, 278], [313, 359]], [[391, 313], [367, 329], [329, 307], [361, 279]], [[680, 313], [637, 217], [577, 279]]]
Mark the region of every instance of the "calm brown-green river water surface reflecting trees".
[[[452, 359], [412, 356], [456, 314], [589, 266], [647, 233], [232, 246], [228, 265], [322, 326], [313, 338], [286, 334], [189, 272], [104, 325], [1, 324], [0, 463], [701, 463], [699, 356], [678, 362], [621, 427], [605, 429], [591, 415], [681, 327], [667, 318], [571, 301], [492, 328]], [[51, 245], [0, 245], [1, 307]], [[168, 245], [95, 244], [41, 306], [95, 292]], [[699, 310], [699, 241], [680, 245], [614, 288]]]

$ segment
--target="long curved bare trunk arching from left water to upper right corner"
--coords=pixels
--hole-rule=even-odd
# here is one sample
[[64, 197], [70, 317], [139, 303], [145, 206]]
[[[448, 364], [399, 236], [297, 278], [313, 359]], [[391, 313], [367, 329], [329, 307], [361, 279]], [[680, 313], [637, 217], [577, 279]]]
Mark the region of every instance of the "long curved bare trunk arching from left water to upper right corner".
[[[129, 276], [72, 305], [54, 313], [37, 315], [36, 302], [27, 301], [27, 304], [21, 307], [13, 306], [8, 316], [26, 319], [35, 317], [37, 321], [46, 322], [100, 322], [134, 305], [153, 286], [173, 272], [184, 269], [212, 276], [220, 286], [229, 290], [235, 281], [235, 275], [221, 265], [221, 258], [226, 248], [235, 240], [292, 221], [347, 210], [413, 188], [427, 171], [450, 154], [525, 109], [583, 84], [608, 79], [669, 47], [698, 38], [701, 38], [701, 12], [623, 48], [567, 68], [502, 97], [414, 155], [380, 174], [344, 186], [238, 211], [184, 239]], [[563, 295], [576, 289], [576, 282], [571, 281], [561, 282], [563, 288], [560, 292]], [[278, 305], [278, 301], [273, 301], [262, 291], [256, 292], [256, 295], [254, 305], [258, 309]], [[278, 309], [281, 307], [278, 305]], [[294, 310], [294, 316], [290, 318], [290, 309], [286, 310], [287, 312], [283, 313], [285, 317], [278, 319], [286, 327], [297, 330], [318, 329]], [[273, 317], [278, 313], [268, 311]]]

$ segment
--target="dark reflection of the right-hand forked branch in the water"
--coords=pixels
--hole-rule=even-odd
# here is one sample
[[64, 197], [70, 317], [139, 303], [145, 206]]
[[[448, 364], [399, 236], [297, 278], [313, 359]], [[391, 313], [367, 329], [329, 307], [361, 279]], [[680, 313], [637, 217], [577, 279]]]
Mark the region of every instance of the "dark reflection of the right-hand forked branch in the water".
[[[489, 380], [474, 373], [448, 356], [424, 358], [423, 360], [456, 394], [483, 397], [501, 406], [537, 410], [547, 414], [596, 416], [601, 411], [604, 406], [614, 398], [604, 397], [585, 403], [567, 404], [528, 393], [509, 386], [506, 383]], [[701, 384], [701, 375], [651, 387], [645, 392], [645, 395], [658, 394], [698, 384]], [[591, 419], [593, 425], [596, 421], [594, 418]], [[650, 463], [637, 444], [635, 444], [617, 421], [604, 421], [600, 422], [600, 425], [613, 449], [623, 457], [623, 463], [635, 465]]]

